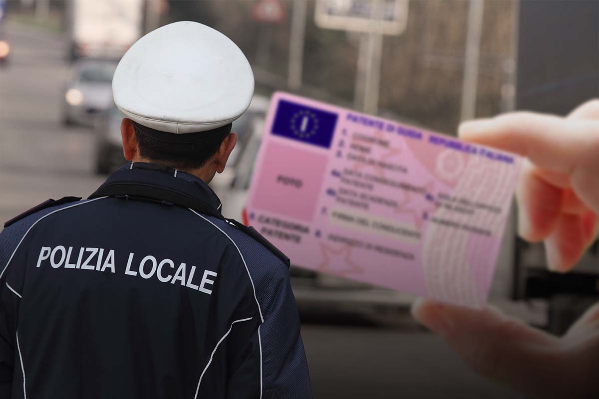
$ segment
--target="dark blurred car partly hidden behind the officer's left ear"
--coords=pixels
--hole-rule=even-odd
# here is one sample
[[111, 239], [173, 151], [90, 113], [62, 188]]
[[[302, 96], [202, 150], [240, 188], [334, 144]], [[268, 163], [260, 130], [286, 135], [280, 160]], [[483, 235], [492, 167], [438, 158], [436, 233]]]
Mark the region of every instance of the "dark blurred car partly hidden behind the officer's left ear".
[[120, 121], [123, 118], [125, 118], [123, 112], [113, 105], [105, 117], [96, 120], [94, 125], [96, 173], [107, 175], [126, 162], [120, 136]]

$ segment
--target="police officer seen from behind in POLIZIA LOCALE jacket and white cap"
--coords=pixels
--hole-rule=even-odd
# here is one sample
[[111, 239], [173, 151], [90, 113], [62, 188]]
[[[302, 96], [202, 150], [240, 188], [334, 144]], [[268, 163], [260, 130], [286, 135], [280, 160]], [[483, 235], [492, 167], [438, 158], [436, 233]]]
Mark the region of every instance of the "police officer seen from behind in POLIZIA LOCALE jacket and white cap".
[[0, 398], [311, 397], [289, 260], [207, 185], [253, 89], [199, 23], [127, 51], [113, 94], [131, 162], [0, 234]]

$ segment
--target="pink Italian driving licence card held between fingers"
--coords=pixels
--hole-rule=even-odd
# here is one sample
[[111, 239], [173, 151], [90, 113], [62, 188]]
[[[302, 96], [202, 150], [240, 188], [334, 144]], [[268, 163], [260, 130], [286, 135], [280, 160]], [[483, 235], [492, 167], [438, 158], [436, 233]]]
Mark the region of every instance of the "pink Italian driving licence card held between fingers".
[[518, 156], [287, 93], [265, 129], [247, 215], [294, 266], [486, 303]]

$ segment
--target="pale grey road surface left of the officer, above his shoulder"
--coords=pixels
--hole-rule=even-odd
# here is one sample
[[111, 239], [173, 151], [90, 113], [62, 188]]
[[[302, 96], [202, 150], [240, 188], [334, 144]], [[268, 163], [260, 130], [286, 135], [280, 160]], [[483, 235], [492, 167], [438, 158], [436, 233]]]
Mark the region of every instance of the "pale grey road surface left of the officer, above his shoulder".
[[50, 197], [87, 196], [102, 182], [92, 171], [92, 132], [60, 124], [68, 74], [60, 37], [7, 26], [11, 57], [0, 69], [0, 220]]

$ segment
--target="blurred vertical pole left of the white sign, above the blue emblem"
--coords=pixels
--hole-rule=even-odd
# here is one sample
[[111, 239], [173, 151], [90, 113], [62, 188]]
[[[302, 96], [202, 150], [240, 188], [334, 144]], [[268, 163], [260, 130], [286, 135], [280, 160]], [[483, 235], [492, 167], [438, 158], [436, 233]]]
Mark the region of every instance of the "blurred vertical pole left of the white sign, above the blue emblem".
[[289, 89], [301, 87], [302, 68], [304, 66], [305, 14], [307, 2], [295, 0], [293, 19], [291, 21], [291, 38], [289, 39], [289, 72], [287, 84]]

